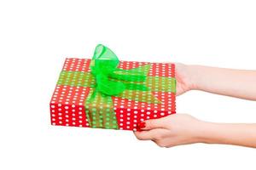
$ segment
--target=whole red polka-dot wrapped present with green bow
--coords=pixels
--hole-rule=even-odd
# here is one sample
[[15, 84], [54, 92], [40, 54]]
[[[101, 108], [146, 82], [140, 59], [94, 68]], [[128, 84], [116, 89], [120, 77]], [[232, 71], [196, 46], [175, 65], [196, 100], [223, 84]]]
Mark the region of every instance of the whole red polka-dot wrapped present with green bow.
[[175, 65], [119, 61], [98, 45], [92, 59], [68, 58], [50, 101], [52, 125], [138, 130], [175, 113]]

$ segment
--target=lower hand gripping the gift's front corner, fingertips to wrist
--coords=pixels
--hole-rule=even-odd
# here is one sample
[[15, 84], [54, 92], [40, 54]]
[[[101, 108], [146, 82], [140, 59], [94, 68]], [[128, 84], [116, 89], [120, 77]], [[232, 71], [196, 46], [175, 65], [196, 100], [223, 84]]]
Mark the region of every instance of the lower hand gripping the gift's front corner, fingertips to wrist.
[[173, 114], [152, 119], [139, 125], [142, 131], [134, 132], [137, 139], [153, 140], [161, 147], [201, 142], [205, 122], [186, 114]]

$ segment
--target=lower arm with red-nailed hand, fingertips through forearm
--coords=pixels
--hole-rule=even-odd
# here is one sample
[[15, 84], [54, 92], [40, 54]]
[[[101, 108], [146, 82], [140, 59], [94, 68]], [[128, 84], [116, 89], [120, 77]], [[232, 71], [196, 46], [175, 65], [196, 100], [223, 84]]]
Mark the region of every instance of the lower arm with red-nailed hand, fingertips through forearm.
[[138, 125], [137, 139], [152, 140], [161, 147], [181, 144], [235, 144], [256, 148], [256, 124], [203, 122], [186, 114], [173, 114]]

